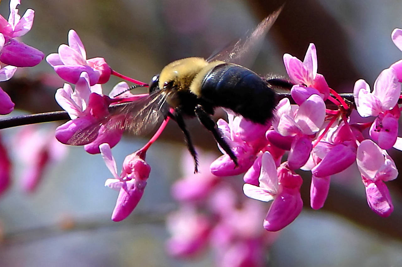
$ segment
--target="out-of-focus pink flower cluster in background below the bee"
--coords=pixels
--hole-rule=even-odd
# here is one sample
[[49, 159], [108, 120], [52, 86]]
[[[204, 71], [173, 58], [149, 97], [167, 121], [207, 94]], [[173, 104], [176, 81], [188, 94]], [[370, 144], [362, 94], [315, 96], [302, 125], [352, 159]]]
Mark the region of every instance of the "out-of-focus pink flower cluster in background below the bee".
[[183, 156], [182, 172], [187, 175], [172, 186], [179, 208], [166, 220], [171, 234], [168, 253], [190, 258], [210, 247], [216, 266], [265, 266], [267, 250], [278, 234], [258, 226], [263, 205], [244, 197], [233, 178], [209, 172], [213, 154], [199, 155], [199, 174], [193, 174], [193, 158], [187, 152]]

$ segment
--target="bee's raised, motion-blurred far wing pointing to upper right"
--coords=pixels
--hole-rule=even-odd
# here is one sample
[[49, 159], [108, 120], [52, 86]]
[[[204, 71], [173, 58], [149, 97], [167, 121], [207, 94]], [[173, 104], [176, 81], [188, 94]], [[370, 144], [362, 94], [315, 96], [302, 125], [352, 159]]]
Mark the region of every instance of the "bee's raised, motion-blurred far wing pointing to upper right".
[[240, 58], [244, 57], [250, 51], [253, 51], [253, 48], [258, 47], [260, 41], [263, 40], [265, 34], [267, 34], [268, 30], [279, 16], [279, 13], [281, 13], [282, 8], [283, 6], [267, 16], [252, 32], [248, 32], [243, 38], [231, 42], [221, 51], [211, 55], [207, 61], [221, 60], [238, 63], [237, 61]]

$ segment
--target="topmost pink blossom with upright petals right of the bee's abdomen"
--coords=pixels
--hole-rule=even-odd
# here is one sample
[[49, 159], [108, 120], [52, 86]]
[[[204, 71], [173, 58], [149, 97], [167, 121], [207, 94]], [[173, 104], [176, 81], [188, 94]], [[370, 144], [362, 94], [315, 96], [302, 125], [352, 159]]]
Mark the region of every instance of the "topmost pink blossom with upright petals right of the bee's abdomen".
[[330, 88], [324, 76], [317, 73], [317, 51], [314, 44], [311, 43], [308, 47], [303, 62], [285, 54], [283, 63], [289, 78], [296, 83], [292, 88], [291, 96], [298, 105], [312, 94], [319, 94], [324, 100], [328, 98]]

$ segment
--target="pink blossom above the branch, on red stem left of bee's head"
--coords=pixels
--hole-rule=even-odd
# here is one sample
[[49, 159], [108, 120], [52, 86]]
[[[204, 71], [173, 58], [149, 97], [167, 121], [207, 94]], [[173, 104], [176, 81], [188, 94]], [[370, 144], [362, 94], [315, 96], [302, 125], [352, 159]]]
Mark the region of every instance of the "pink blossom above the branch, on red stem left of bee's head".
[[109, 81], [112, 69], [102, 57], [86, 59], [80, 37], [74, 30], [68, 32], [68, 45], [59, 46], [58, 53], [46, 57], [57, 75], [69, 83], [77, 83], [82, 72], [88, 73], [90, 85]]

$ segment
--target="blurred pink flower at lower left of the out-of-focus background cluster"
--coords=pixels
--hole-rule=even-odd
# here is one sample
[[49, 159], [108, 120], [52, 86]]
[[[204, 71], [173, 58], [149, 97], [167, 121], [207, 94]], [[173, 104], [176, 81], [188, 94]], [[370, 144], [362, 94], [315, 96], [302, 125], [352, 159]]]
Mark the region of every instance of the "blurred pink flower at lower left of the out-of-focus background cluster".
[[167, 251], [174, 257], [190, 257], [200, 252], [207, 244], [211, 224], [209, 218], [187, 205], [172, 212], [166, 219], [170, 239]]

